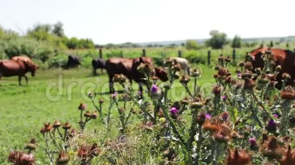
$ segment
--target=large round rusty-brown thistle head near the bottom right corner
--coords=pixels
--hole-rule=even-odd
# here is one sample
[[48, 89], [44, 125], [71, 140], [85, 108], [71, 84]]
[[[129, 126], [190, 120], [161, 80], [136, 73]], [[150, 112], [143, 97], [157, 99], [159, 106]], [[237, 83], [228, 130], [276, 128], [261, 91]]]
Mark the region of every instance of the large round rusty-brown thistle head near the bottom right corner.
[[264, 142], [260, 146], [259, 152], [269, 159], [276, 159], [283, 156], [285, 148], [279, 144], [279, 141], [276, 137], [272, 136], [268, 138], [268, 141]]

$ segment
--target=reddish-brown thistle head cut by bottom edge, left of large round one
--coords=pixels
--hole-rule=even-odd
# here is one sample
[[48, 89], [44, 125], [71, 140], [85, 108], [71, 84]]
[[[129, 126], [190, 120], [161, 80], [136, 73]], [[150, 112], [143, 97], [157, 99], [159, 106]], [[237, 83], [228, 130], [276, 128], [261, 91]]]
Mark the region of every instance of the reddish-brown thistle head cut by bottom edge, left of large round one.
[[226, 164], [227, 165], [246, 165], [251, 163], [251, 155], [246, 153], [244, 150], [233, 150], [228, 149]]

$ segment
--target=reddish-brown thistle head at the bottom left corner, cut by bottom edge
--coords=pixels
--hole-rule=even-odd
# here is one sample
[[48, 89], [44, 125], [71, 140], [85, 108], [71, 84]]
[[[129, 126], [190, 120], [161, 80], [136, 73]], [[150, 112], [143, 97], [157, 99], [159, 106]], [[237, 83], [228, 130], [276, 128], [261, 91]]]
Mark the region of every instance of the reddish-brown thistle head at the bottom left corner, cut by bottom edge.
[[15, 165], [34, 165], [35, 156], [32, 153], [11, 151], [8, 155], [8, 161]]

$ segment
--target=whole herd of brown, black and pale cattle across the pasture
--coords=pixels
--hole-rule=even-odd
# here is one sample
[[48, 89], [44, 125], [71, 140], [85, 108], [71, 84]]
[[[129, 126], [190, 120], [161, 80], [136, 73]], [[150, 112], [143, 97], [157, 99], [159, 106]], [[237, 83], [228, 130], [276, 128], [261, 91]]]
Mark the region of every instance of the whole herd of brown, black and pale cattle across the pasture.
[[[255, 68], [263, 68], [264, 61], [262, 55], [265, 51], [270, 50], [275, 57], [275, 65], [281, 65], [282, 70], [277, 76], [277, 81], [280, 83], [282, 79], [282, 73], [289, 73], [291, 79], [289, 80], [289, 85], [294, 85], [295, 77], [295, 53], [275, 48], [258, 48], [250, 52], [250, 55], [253, 57], [252, 65], [253, 70]], [[173, 60], [176, 63], [179, 63], [184, 72], [190, 73], [190, 65], [188, 60], [179, 57], [169, 57], [170, 60]], [[139, 58], [110, 58], [104, 60], [101, 58], [93, 59], [92, 66], [94, 73], [96, 74], [97, 69], [106, 70], [109, 76], [109, 87], [110, 92], [114, 92], [113, 89], [113, 76], [115, 74], [124, 74], [132, 84], [132, 80], [136, 81], [139, 84], [140, 92], [142, 93], [142, 85], [145, 84], [144, 75], [137, 70], [137, 67], [141, 64], [153, 65], [153, 59], [149, 57], [139, 57]], [[69, 56], [67, 67], [79, 65], [80, 62], [77, 56]], [[26, 56], [15, 56], [10, 60], [1, 60], [0, 61], [0, 79], [2, 76], [18, 76], [19, 85], [21, 84], [21, 77], [25, 77], [27, 82], [26, 73], [31, 72], [32, 76], [35, 75], [36, 70], [38, 69], [36, 65], [30, 58]], [[155, 67], [154, 75], [157, 76], [162, 81], [167, 81], [167, 72], [164, 68]]]

